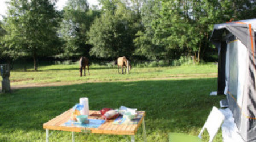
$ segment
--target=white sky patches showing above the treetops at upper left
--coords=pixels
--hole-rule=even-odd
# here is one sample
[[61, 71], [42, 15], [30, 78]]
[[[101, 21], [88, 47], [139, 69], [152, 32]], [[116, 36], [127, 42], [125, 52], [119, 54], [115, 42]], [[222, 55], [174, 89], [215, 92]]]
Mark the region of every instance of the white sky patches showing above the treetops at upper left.
[[[6, 1], [8, 0], [0, 0], [0, 15], [4, 15], [6, 16], [6, 12], [7, 12], [7, 5], [6, 5]], [[57, 9], [62, 10], [63, 7], [65, 6], [65, 3], [68, 0], [59, 0], [57, 2]], [[98, 5], [98, 1], [97, 0], [87, 0], [87, 2], [89, 3], [89, 5]], [[0, 20], [2, 20], [2, 16], [0, 16]]]

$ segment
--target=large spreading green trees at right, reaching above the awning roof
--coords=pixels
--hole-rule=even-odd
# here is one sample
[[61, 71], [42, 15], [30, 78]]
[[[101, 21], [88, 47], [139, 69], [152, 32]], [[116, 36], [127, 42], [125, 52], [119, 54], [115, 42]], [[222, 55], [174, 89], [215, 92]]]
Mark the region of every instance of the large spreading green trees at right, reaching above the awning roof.
[[197, 61], [211, 47], [210, 32], [216, 23], [253, 18], [250, 0], [150, 0], [142, 6], [144, 30], [134, 40], [136, 53], [149, 59], [193, 55]]

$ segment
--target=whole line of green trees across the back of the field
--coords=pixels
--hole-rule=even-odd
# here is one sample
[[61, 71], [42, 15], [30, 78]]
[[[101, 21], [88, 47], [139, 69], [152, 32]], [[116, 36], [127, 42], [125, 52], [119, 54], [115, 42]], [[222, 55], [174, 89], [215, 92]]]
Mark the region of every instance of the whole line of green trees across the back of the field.
[[0, 59], [203, 59], [213, 25], [254, 18], [251, 0], [9, 0], [0, 22]]

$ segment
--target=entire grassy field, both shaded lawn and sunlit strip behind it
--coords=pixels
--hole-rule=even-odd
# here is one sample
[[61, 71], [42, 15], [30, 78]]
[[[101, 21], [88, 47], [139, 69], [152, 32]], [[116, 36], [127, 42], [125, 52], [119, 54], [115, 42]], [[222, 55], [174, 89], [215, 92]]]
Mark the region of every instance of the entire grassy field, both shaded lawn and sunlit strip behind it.
[[[197, 135], [211, 108], [218, 107], [218, 102], [224, 99], [224, 96], [209, 96], [210, 91], [217, 89], [216, 77], [209, 75], [217, 72], [216, 65], [212, 64], [134, 68], [129, 75], [117, 74], [117, 69], [95, 67], [90, 71], [91, 75], [86, 77], [79, 77], [76, 66], [60, 67], [44, 66], [39, 72], [16, 70], [11, 73], [11, 80], [34, 78], [16, 81], [13, 83], [16, 85], [59, 80], [89, 80], [92, 83], [16, 89], [10, 94], [1, 94], [0, 141], [44, 141], [46, 132], [42, 128], [43, 123], [73, 107], [80, 97], [89, 98], [89, 108], [92, 110], [119, 108], [121, 105], [144, 110], [147, 140], [168, 141], [168, 132]], [[168, 80], [164, 79], [166, 77]], [[101, 82], [95, 83], [94, 80]], [[130, 137], [75, 133], [75, 140], [130, 141]], [[135, 141], [142, 140], [142, 129], [139, 128]], [[57, 131], [50, 141], [71, 141], [71, 132]], [[221, 131], [214, 141], [222, 141]]]

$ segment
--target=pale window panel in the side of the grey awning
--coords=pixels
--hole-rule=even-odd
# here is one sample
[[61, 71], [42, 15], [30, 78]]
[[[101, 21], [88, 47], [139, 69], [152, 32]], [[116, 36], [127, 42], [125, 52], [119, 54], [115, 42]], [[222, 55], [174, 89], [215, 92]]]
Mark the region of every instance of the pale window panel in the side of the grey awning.
[[240, 106], [242, 105], [248, 60], [248, 49], [240, 40], [233, 40], [227, 44], [225, 91], [228, 91], [228, 94], [231, 94]]

